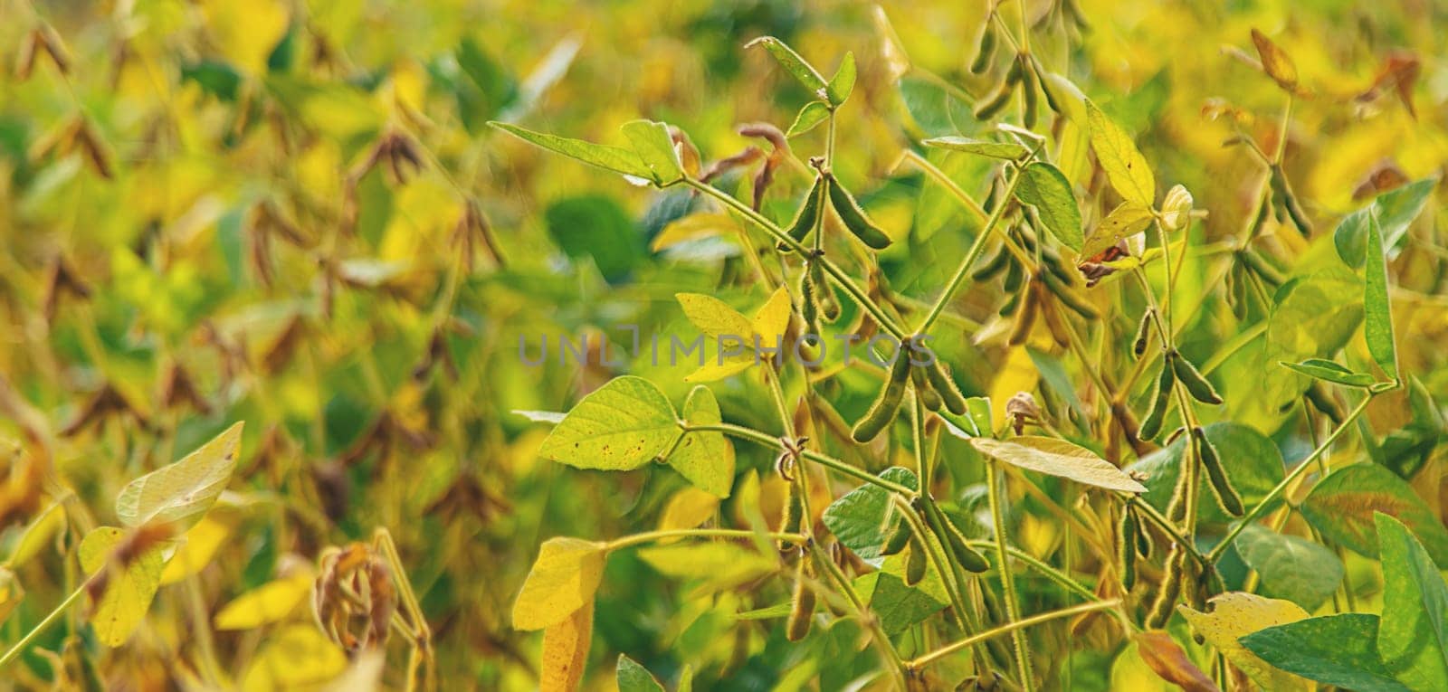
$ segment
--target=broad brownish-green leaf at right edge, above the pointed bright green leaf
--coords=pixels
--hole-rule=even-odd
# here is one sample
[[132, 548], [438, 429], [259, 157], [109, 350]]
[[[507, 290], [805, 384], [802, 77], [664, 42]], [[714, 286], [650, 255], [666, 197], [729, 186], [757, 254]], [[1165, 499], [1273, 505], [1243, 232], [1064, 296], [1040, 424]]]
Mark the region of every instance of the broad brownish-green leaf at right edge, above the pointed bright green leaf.
[[1374, 512], [1396, 517], [1413, 530], [1439, 566], [1448, 566], [1448, 528], [1396, 473], [1376, 463], [1334, 471], [1302, 502], [1302, 515], [1329, 540], [1377, 557]]

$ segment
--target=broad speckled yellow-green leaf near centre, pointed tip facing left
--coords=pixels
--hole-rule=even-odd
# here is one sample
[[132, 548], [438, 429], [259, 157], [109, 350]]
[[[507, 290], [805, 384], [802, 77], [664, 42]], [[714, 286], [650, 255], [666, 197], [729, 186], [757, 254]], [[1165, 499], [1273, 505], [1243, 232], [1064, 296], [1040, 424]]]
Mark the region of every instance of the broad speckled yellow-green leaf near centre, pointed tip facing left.
[[678, 434], [663, 392], [624, 375], [584, 397], [543, 440], [539, 456], [579, 469], [628, 471], [663, 453]]

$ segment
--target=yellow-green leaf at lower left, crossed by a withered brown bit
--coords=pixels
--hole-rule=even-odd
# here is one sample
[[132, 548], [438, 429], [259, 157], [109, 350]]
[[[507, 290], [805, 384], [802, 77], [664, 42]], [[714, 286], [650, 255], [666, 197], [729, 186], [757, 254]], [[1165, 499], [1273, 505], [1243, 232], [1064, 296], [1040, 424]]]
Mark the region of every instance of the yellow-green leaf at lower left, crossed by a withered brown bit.
[[110, 570], [104, 576], [106, 589], [90, 609], [96, 638], [110, 647], [130, 638], [161, 585], [161, 546], [135, 556], [129, 566], [111, 565], [111, 550], [125, 539], [126, 531], [106, 526], [85, 534], [80, 546], [85, 573], [94, 575], [103, 567]]

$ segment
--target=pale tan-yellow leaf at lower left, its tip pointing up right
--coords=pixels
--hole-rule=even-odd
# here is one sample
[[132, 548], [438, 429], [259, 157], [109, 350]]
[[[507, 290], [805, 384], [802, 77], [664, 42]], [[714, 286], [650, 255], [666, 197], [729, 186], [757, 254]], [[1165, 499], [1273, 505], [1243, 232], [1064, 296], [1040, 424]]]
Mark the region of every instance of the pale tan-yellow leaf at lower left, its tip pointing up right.
[[243, 426], [236, 423], [180, 462], [127, 484], [116, 497], [116, 517], [126, 526], [162, 521], [177, 533], [191, 528], [230, 482]]

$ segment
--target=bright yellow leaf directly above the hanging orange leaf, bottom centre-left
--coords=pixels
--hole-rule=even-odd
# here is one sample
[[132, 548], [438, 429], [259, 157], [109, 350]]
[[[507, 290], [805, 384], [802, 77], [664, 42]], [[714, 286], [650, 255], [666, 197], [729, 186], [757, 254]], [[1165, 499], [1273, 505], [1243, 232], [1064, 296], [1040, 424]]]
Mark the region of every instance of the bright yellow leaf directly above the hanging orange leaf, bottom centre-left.
[[602, 543], [582, 539], [544, 541], [513, 604], [513, 627], [542, 630], [592, 601], [604, 578], [607, 550]]

